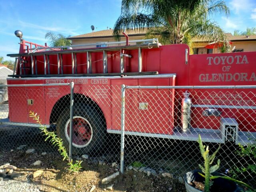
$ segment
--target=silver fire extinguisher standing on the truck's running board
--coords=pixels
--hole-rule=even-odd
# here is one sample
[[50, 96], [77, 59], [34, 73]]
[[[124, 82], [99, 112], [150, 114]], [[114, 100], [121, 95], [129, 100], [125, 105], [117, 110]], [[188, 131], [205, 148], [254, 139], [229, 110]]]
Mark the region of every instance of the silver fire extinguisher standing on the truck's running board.
[[182, 121], [182, 132], [188, 133], [191, 128], [191, 98], [188, 91], [183, 93], [184, 97], [182, 99], [182, 109], [181, 109], [181, 121]]

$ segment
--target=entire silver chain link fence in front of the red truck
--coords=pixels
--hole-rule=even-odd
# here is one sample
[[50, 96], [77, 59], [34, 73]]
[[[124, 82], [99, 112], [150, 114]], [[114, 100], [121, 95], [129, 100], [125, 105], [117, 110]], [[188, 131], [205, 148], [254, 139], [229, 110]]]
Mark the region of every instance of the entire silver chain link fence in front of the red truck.
[[[220, 172], [255, 164], [255, 157], [236, 153], [238, 144], [246, 146], [256, 138], [255, 87], [126, 86], [121, 92], [121, 84], [80, 83], [73, 90], [72, 126], [70, 84], [8, 86], [8, 95], [2, 96], [9, 98], [0, 103], [0, 150], [57, 153], [29, 117], [32, 111], [66, 148], [73, 128], [73, 157], [117, 162], [121, 171], [124, 164], [124, 169], [183, 176], [202, 164], [198, 134], [212, 151], [221, 145], [216, 158], [221, 160]], [[186, 98], [190, 105], [185, 107]], [[255, 184], [255, 172], [239, 176]]]

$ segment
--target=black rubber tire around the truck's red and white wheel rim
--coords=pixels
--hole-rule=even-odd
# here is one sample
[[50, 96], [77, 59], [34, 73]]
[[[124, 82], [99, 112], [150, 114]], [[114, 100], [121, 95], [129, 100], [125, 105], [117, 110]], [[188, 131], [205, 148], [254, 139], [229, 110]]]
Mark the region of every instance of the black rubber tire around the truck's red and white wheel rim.
[[[87, 104], [74, 104], [73, 116], [81, 116], [88, 120], [92, 127], [92, 139], [88, 146], [78, 148], [73, 144], [73, 154], [95, 154], [99, 153], [106, 140], [106, 123], [103, 114], [99, 113], [94, 107]], [[65, 125], [70, 119], [70, 108], [66, 108], [60, 113], [57, 120], [57, 134], [63, 140], [66, 149], [69, 149], [69, 141], [65, 136]], [[75, 133], [74, 133], [75, 134]]]

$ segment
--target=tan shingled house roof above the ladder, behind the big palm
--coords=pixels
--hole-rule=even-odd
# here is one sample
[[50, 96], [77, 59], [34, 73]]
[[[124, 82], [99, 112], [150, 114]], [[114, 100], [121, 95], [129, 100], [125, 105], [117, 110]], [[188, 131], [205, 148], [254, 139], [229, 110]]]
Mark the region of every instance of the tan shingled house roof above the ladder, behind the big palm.
[[[140, 31], [136, 29], [126, 30], [126, 34], [128, 34], [129, 36], [144, 36], [146, 35], [146, 30], [140, 30]], [[72, 40], [72, 39], [108, 38], [108, 37], [113, 37], [112, 29], [95, 31], [95, 32], [86, 33], [82, 35], [72, 36], [67, 39]]]

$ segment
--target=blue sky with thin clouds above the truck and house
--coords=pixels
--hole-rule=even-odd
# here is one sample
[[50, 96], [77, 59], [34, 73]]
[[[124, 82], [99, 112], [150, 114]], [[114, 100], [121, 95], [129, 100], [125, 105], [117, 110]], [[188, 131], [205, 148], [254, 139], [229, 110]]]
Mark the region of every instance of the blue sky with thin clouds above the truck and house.
[[[256, 27], [256, 0], [225, 0], [230, 16], [216, 15], [212, 19], [226, 32]], [[66, 36], [113, 28], [120, 15], [121, 0], [0, 0], [0, 56], [18, 53], [15, 30], [21, 30], [24, 39], [44, 44], [46, 32]]]

